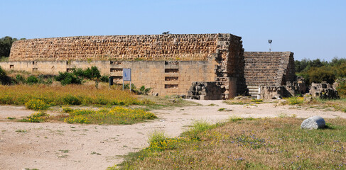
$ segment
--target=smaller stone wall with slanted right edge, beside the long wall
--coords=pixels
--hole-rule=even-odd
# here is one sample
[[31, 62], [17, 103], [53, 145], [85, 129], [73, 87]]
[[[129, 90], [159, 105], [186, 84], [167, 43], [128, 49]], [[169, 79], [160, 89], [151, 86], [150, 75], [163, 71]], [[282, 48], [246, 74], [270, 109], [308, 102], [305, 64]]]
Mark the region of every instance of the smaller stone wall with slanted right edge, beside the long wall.
[[282, 86], [295, 81], [293, 52], [244, 52], [247, 86]]

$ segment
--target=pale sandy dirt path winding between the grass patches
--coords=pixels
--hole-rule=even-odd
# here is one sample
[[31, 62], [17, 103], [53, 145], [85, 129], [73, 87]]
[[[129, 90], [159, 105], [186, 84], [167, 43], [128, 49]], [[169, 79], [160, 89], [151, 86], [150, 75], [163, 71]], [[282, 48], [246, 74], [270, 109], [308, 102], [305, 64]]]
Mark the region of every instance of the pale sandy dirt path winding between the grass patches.
[[[195, 120], [217, 123], [232, 116], [273, 118], [296, 115], [308, 118], [346, 118], [346, 113], [313, 108], [227, 105], [222, 101], [195, 101], [188, 106], [153, 111], [158, 119], [135, 125], [75, 125], [67, 123], [19, 123], [33, 111], [23, 106], [0, 106], [0, 169], [107, 169], [129, 152], [148, 146], [148, 135], [159, 130], [180, 135]], [[211, 103], [216, 106], [207, 106]], [[231, 111], [217, 111], [227, 108]]]

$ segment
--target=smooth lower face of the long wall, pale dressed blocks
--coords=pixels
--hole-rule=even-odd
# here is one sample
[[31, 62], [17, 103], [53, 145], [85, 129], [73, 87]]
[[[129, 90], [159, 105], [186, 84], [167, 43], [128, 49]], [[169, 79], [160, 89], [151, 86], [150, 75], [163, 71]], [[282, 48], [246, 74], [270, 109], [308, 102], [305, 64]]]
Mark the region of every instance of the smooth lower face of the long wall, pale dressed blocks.
[[[152, 88], [160, 96], [187, 95], [193, 81], [214, 81], [216, 78], [213, 61], [58, 61], [58, 62], [0, 62], [7, 70], [23, 70], [42, 74], [69, 72], [75, 68], [86, 69], [96, 66], [101, 74], [113, 77], [115, 84], [122, 84], [122, 70], [131, 68], [132, 83]], [[126, 82], [129, 83], [129, 82]]]

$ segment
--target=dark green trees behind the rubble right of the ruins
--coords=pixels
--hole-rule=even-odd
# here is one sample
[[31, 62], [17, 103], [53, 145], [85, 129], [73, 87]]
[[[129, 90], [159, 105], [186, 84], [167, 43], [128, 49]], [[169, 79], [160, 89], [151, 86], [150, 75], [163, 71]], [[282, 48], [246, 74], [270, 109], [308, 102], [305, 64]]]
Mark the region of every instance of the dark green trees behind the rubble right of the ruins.
[[336, 79], [346, 77], [346, 59], [334, 57], [331, 62], [320, 59], [301, 61], [296, 60], [296, 74], [306, 80], [306, 84], [327, 81], [333, 84]]

